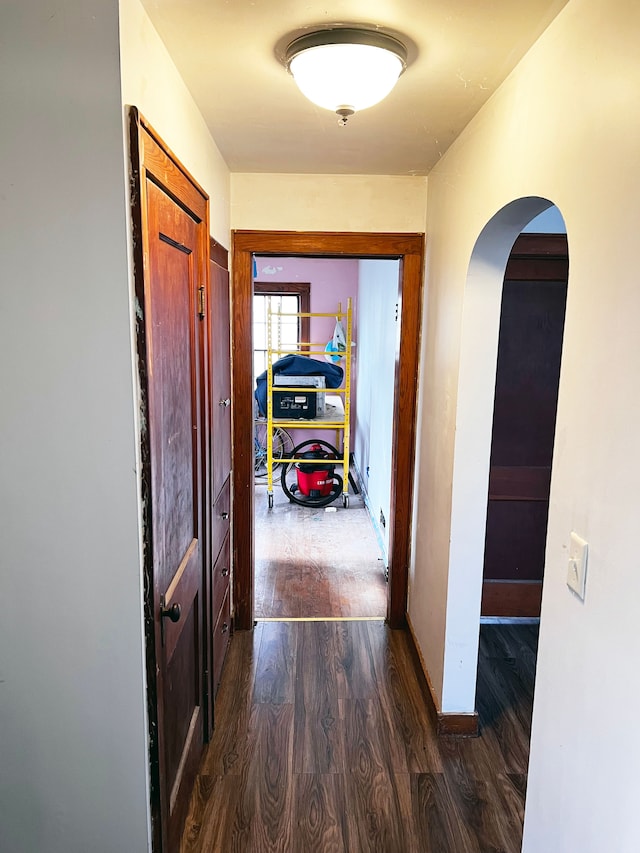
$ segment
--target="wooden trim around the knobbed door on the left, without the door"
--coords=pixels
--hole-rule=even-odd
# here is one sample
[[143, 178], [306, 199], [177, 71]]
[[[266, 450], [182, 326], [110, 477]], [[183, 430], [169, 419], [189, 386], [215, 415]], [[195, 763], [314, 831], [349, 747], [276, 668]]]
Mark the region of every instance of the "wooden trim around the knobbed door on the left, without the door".
[[[131, 168], [131, 221], [132, 221], [132, 254], [134, 291], [136, 299], [136, 352], [138, 362], [138, 382], [140, 388], [140, 498], [143, 552], [143, 611], [145, 629], [145, 656], [147, 674], [147, 714], [149, 720], [148, 749], [150, 775], [150, 811], [151, 811], [151, 843], [153, 850], [163, 850], [168, 843], [167, 827], [162, 812], [161, 772], [159, 732], [163, 724], [162, 708], [158, 703], [159, 696], [159, 667], [156, 625], [156, 605], [154, 601], [154, 566], [153, 566], [153, 497], [151, 489], [151, 437], [149, 431], [149, 376], [147, 366], [147, 330], [146, 330], [146, 278], [147, 268], [145, 258], [148, 257], [147, 231], [147, 191], [146, 181], [149, 179], [167, 193], [180, 207], [187, 211], [198, 223], [198, 274], [208, 292], [208, 240], [209, 240], [209, 196], [194, 180], [190, 173], [175, 157], [171, 149], [146, 121], [137, 107], [129, 108], [129, 144]], [[183, 192], [176, 193], [167, 187], [168, 183], [184, 181]], [[204, 336], [202, 337], [204, 344]], [[206, 345], [205, 345], [206, 346]], [[201, 382], [207, 386], [208, 372], [206, 369], [206, 352], [199, 352]], [[202, 435], [202, 482], [198, 488], [206, 495], [207, 465], [206, 453], [206, 411], [207, 401], [202, 400], [201, 421], [205, 426]], [[206, 503], [204, 504], [206, 513]], [[206, 549], [209, 547], [206, 532], [207, 522], [203, 515], [200, 519], [203, 537], [203, 560], [206, 565]], [[202, 677], [202, 673], [201, 673]], [[204, 709], [205, 716], [207, 709]]]

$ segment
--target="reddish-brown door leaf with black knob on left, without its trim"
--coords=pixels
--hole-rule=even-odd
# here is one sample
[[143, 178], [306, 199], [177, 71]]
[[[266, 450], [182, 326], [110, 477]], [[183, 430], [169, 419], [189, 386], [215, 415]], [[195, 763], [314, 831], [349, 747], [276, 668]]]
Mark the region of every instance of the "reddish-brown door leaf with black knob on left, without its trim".
[[198, 223], [151, 181], [146, 197], [160, 793], [166, 849], [174, 850], [204, 743]]

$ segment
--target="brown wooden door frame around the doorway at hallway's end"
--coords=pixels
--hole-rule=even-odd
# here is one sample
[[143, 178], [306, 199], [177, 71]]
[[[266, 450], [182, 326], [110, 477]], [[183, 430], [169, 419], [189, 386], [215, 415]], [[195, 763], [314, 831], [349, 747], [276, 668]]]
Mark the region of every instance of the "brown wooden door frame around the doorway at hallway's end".
[[253, 255], [397, 259], [399, 346], [396, 350], [389, 519], [387, 621], [406, 624], [422, 318], [424, 234], [321, 231], [232, 232], [232, 394], [235, 627], [253, 627]]

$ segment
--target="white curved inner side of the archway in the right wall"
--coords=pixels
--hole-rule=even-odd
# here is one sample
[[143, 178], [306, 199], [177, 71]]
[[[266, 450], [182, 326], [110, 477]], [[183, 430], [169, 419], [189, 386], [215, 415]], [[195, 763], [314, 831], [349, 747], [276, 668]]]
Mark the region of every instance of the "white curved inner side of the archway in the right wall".
[[[442, 708], [475, 711], [496, 365], [503, 282], [518, 235], [553, 202], [526, 197], [499, 210], [476, 240], [464, 293], [451, 496]], [[455, 642], [451, 638], [455, 638]]]

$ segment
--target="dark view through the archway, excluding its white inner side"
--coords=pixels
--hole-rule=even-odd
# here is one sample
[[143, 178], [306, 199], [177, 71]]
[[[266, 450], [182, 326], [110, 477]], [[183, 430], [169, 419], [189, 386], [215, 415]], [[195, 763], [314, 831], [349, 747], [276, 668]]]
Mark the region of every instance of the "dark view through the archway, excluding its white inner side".
[[497, 726], [524, 788], [535, 689], [568, 247], [557, 208], [509, 255], [501, 299], [476, 711]]

